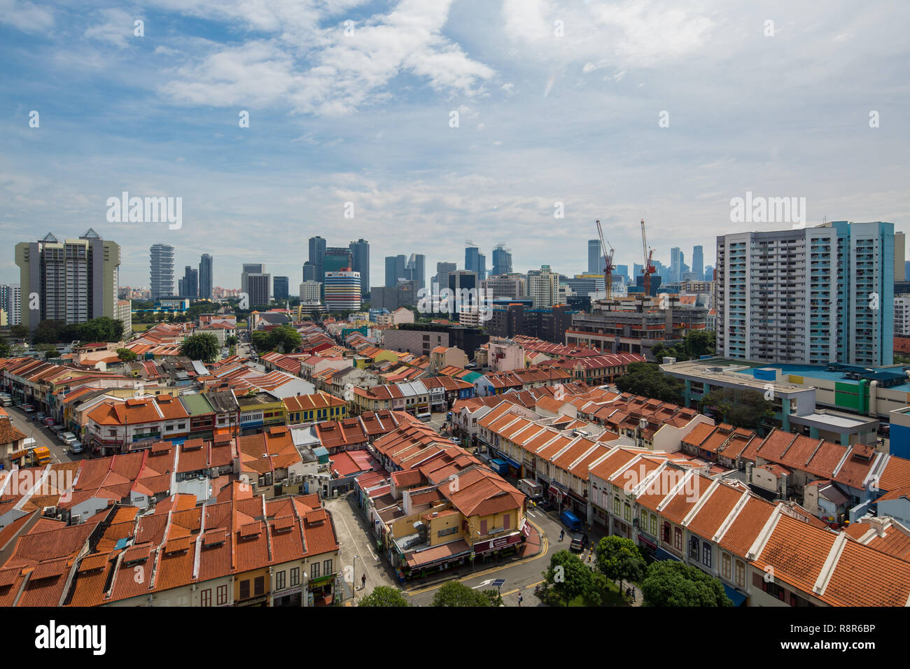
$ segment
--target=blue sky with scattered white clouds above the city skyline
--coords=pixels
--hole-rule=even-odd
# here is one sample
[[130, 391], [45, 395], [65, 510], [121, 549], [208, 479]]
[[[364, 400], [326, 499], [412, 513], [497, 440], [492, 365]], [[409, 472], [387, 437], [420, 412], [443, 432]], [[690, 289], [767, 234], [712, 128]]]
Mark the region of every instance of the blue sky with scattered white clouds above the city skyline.
[[[595, 218], [617, 264], [642, 263], [644, 218], [654, 258], [679, 246], [691, 263], [701, 244], [713, 265], [718, 234], [791, 227], [733, 222], [747, 191], [805, 198], [808, 225], [905, 230], [908, 16], [837, 0], [0, 0], [0, 282], [18, 281], [17, 242], [87, 228], [121, 245], [121, 286], [148, 286], [160, 242], [176, 277], [210, 253], [216, 285], [263, 262], [292, 292], [313, 235], [369, 240], [373, 286], [387, 255], [423, 253], [428, 280], [437, 261], [463, 268], [467, 240], [488, 269], [504, 242], [516, 271], [571, 276]], [[182, 198], [180, 227], [108, 221], [123, 191]]]

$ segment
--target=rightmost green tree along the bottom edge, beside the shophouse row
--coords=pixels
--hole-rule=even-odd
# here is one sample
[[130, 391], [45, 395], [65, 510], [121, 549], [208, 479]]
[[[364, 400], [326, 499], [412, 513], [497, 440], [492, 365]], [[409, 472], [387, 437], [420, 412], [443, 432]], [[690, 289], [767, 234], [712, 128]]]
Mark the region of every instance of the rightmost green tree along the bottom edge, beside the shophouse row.
[[720, 581], [675, 560], [652, 563], [642, 593], [645, 606], [733, 606]]

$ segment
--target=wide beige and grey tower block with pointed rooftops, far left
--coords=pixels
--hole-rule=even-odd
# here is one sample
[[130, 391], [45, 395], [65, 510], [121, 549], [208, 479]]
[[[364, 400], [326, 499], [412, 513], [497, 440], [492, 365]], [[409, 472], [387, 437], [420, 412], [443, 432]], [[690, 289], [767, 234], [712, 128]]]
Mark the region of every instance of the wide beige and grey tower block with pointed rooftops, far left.
[[35, 242], [16, 244], [15, 264], [20, 286], [17, 324], [35, 329], [45, 319], [83, 323], [114, 318], [120, 247], [95, 230], [63, 242], [47, 233]]

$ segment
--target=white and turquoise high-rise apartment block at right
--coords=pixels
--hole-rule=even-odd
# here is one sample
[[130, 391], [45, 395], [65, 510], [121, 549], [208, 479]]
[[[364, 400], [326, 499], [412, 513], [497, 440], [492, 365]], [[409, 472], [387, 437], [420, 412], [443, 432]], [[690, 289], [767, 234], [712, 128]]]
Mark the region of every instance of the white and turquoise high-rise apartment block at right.
[[743, 360], [890, 365], [893, 223], [717, 238], [717, 352]]

